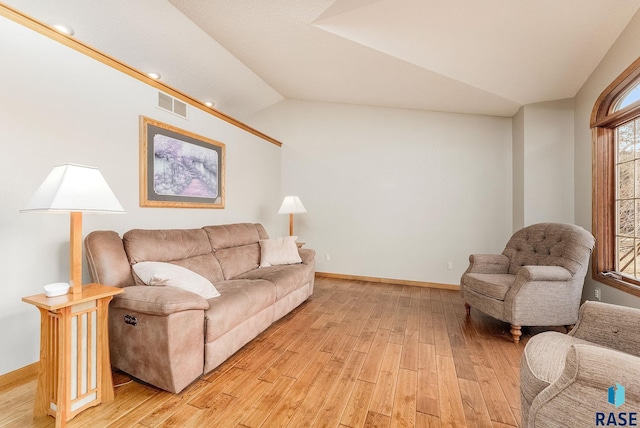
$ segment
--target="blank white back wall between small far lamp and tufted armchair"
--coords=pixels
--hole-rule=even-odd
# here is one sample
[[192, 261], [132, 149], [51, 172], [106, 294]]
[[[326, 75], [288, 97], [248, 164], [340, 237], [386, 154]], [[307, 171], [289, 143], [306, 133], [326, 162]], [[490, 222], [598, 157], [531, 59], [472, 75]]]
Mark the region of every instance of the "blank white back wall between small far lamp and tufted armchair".
[[287, 100], [251, 123], [284, 144], [318, 271], [458, 284], [511, 235], [509, 118]]

